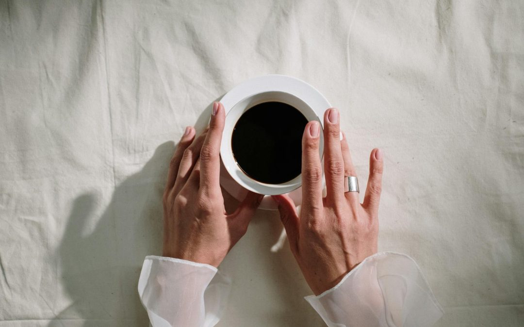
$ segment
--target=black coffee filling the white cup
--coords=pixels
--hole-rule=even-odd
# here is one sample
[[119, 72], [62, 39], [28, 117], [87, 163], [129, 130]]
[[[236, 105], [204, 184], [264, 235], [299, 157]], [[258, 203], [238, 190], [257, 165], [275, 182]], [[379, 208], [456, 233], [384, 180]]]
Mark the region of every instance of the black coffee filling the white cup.
[[265, 102], [249, 108], [236, 122], [233, 155], [249, 177], [281, 184], [300, 175], [302, 133], [308, 120], [296, 108]]

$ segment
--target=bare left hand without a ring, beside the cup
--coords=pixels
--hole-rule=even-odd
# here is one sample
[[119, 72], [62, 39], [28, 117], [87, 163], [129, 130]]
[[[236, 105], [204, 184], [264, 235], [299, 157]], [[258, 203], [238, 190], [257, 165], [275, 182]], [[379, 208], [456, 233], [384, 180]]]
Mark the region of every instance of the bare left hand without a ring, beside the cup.
[[224, 121], [224, 107], [215, 102], [209, 128], [194, 140], [188, 127], [173, 154], [163, 194], [163, 256], [218, 267], [246, 233], [263, 198], [248, 193], [227, 215], [219, 181]]

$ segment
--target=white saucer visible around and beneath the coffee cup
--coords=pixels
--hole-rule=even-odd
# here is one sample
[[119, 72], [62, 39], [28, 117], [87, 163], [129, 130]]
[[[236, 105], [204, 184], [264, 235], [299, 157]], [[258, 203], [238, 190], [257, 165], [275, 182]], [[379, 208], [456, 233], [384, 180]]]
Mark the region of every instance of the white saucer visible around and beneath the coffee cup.
[[[224, 105], [225, 114], [243, 99], [263, 92], [285, 92], [294, 95], [306, 103], [316, 116], [320, 118], [323, 128], [324, 111], [331, 107], [328, 100], [313, 86], [298, 78], [286, 75], [265, 75], [252, 78], [242, 84], [235, 86], [231, 91], [227, 92], [220, 102]], [[322, 183], [325, 186], [324, 178], [322, 176]], [[220, 184], [227, 193], [242, 201], [248, 190], [239, 185], [233, 177], [227, 172], [222, 159], [220, 161]], [[299, 187], [287, 193], [293, 199], [295, 205], [302, 204], [302, 187]], [[271, 196], [264, 196], [260, 204], [260, 209], [277, 210], [276, 202]]]

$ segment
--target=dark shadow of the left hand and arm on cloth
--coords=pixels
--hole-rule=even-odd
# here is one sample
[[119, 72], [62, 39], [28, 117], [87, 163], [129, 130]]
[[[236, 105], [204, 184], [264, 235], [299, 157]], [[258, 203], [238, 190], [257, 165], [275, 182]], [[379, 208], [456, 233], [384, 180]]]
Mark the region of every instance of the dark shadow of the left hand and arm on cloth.
[[140, 172], [116, 186], [101, 216], [95, 210], [103, 191], [74, 200], [57, 251], [71, 305], [50, 326], [148, 324], [137, 283], [144, 257], [161, 253], [161, 197], [173, 149], [173, 142], [158, 146]]

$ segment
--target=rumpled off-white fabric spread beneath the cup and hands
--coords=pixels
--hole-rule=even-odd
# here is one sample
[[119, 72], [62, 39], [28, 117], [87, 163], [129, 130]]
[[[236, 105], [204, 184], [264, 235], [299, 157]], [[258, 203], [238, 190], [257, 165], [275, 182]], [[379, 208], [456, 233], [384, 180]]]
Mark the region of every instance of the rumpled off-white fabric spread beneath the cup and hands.
[[[364, 189], [384, 149], [379, 250], [405, 252], [438, 325], [524, 320], [521, 1], [0, 1], [0, 326], [145, 326], [141, 264], [183, 127], [247, 78], [342, 111]], [[220, 326], [319, 326], [275, 212], [221, 269]]]

